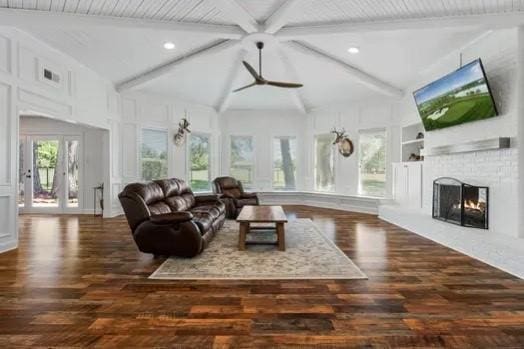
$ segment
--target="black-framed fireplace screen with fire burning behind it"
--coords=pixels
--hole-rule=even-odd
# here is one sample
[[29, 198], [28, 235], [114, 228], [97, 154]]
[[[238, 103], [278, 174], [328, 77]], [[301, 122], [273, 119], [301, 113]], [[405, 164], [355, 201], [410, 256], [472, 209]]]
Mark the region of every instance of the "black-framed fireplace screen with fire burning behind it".
[[433, 218], [488, 229], [489, 188], [441, 177], [433, 181]]

